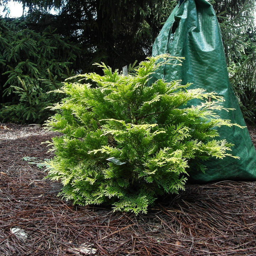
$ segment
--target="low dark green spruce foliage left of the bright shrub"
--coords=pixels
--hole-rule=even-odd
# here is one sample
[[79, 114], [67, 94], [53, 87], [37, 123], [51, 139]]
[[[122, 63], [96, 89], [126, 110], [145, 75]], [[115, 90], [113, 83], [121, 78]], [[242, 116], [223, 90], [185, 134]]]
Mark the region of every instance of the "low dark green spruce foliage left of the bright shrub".
[[43, 123], [53, 114], [45, 108], [62, 97], [48, 92], [73, 75], [79, 49], [50, 27], [38, 33], [20, 20], [0, 18], [0, 35], [0, 119]]

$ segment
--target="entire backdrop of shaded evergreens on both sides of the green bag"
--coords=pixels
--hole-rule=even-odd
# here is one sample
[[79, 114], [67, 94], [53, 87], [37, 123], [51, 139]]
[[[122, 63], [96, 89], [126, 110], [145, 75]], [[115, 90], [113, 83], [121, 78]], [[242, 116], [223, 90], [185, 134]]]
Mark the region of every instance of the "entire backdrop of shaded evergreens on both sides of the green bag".
[[[43, 123], [60, 100], [48, 93], [74, 73], [141, 61], [176, 0], [22, 0], [18, 18], [0, 17], [0, 121]], [[255, 123], [254, 0], [210, 1], [218, 15], [230, 82], [247, 122]], [[8, 6], [9, 1], [1, 4]], [[49, 10], [55, 9], [56, 15]], [[25, 12], [24, 12], [25, 13]]]

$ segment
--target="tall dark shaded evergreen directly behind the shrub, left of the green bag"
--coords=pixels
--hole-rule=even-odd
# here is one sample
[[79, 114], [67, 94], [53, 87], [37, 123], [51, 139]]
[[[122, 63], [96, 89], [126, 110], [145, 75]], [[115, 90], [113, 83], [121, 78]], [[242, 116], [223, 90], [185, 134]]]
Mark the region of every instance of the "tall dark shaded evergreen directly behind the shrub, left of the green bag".
[[[95, 62], [120, 68], [151, 55], [154, 39], [176, 4], [176, 0], [21, 2], [31, 10], [33, 30], [51, 23], [57, 33], [80, 45], [81, 73], [92, 71]], [[49, 8], [57, 9], [58, 15], [47, 15]]]

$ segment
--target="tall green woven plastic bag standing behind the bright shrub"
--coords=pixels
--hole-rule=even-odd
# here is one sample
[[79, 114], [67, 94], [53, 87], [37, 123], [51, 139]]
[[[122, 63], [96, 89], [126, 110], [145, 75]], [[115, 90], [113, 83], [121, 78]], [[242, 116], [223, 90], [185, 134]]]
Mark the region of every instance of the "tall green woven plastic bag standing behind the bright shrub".
[[[182, 80], [182, 84], [192, 83], [189, 89], [199, 87], [208, 92], [214, 91], [224, 97], [225, 108], [235, 108], [230, 112], [218, 111], [220, 118], [246, 126], [238, 100], [229, 84], [218, 20], [208, 1], [185, 0], [175, 7], [153, 46], [153, 56], [164, 53], [185, 59], [182, 66], [167, 64], [161, 67], [153, 75], [153, 80]], [[191, 105], [199, 103], [190, 101]], [[240, 159], [212, 158], [204, 163], [206, 172], [191, 171], [189, 181], [256, 180], [256, 151], [247, 128], [221, 127], [218, 131], [218, 139], [233, 143], [231, 154]]]

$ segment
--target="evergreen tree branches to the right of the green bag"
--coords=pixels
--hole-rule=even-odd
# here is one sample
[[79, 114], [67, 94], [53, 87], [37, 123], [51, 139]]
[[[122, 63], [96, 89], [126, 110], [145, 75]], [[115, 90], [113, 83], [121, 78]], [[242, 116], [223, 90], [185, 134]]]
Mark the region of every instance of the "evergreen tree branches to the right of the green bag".
[[210, 1], [218, 16], [230, 83], [246, 122], [256, 123], [255, 0]]

